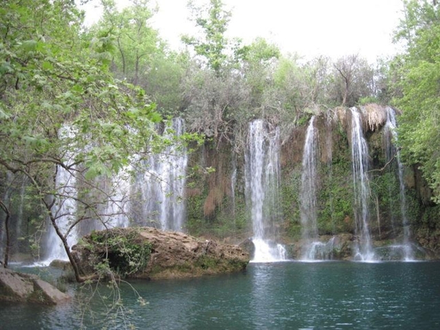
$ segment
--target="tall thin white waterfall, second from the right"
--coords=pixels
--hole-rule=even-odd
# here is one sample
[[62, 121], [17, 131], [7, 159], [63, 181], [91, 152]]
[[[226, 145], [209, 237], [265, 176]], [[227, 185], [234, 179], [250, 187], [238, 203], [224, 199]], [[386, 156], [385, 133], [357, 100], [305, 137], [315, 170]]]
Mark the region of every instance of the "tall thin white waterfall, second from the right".
[[351, 162], [353, 170], [354, 212], [356, 236], [355, 259], [373, 261], [375, 255], [369, 230], [369, 150], [362, 131], [362, 119], [358, 109], [351, 108]]

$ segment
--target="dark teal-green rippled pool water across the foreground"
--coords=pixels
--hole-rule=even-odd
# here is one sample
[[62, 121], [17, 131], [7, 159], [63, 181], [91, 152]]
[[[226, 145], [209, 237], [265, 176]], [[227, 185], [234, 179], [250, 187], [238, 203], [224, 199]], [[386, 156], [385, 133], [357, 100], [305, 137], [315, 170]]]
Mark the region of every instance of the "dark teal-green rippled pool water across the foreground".
[[[131, 285], [148, 303], [124, 285], [130, 310], [113, 322], [82, 315], [75, 299], [2, 303], [0, 329], [79, 329], [81, 319], [87, 329], [440, 329], [437, 262], [250, 264], [240, 274]], [[104, 311], [96, 300], [90, 307]]]

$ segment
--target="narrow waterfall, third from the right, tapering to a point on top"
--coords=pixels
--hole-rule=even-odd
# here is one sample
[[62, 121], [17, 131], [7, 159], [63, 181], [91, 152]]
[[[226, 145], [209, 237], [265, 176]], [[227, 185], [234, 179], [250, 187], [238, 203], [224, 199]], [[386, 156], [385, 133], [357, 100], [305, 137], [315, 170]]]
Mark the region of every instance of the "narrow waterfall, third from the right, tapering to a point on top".
[[302, 259], [314, 260], [318, 241], [316, 182], [318, 175], [318, 131], [312, 116], [307, 127], [303, 151], [303, 165], [300, 188], [300, 217], [303, 237]]

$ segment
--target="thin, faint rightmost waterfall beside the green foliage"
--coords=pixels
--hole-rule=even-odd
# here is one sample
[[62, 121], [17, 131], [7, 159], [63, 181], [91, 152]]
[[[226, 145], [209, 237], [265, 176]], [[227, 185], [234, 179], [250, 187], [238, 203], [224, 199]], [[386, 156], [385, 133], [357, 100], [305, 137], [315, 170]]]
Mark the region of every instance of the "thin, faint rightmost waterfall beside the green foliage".
[[397, 140], [396, 131], [396, 118], [395, 111], [391, 107], [386, 108], [386, 124], [385, 124], [385, 135], [386, 135], [386, 156], [387, 161], [390, 162], [392, 157], [395, 157], [397, 161], [397, 170], [399, 176], [399, 202], [400, 202], [400, 212], [401, 212], [401, 224], [404, 229], [403, 239], [401, 242], [402, 257], [404, 261], [414, 260], [414, 255], [412, 252], [412, 247], [410, 243], [410, 225], [408, 223], [408, 217], [406, 212], [406, 195], [405, 195], [405, 184], [404, 184], [404, 165], [400, 161], [399, 149], [395, 148], [393, 141]]

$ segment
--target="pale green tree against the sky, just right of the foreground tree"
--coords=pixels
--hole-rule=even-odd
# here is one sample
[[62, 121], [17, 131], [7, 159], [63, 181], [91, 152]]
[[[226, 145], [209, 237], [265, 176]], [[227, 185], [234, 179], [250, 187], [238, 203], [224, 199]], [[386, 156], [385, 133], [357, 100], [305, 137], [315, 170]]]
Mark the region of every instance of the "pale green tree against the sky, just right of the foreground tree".
[[91, 43], [100, 43], [102, 36], [114, 47], [106, 54], [111, 72], [120, 79], [142, 87], [163, 115], [179, 115], [180, 82], [187, 66], [186, 54], [170, 52], [149, 25], [155, 10], [148, 0], [133, 0], [118, 10], [113, 0], [102, 1], [102, 19], [91, 27]]

